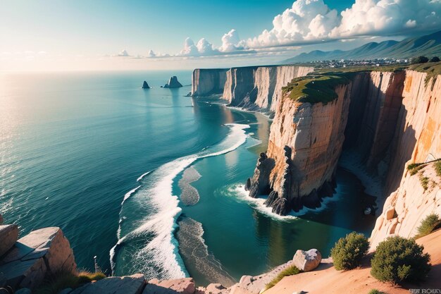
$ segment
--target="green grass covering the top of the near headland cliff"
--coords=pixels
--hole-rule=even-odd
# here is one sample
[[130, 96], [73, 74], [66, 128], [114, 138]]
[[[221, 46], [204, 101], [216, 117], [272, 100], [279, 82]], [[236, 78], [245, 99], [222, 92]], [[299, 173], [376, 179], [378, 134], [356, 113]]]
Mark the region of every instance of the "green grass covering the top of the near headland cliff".
[[322, 68], [304, 77], [294, 78], [283, 93], [289, 92], [289, 97], [294, 101], [304, 103], [327, 104], [337, 99], [335, 87], [347, 85], [357, 73], [370, 71], [403, 71], [404, 66], [356, 66], [347, 68]]

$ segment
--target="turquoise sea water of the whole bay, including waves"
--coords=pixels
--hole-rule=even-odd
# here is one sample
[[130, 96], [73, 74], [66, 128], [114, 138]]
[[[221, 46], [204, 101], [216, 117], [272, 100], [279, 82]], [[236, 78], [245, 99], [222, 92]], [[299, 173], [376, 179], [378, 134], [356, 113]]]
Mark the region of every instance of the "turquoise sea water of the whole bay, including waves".
[[[80, 268], [97, 255], [108, 274], [199, 284], [260, 274], [299, 248], [328, 255], [342, 235], [370, 233], [375, 219], [362, 210], [372, 198], [342, 169], [316, 212], [280, 218], [247, 198], [271, 122], [184, 97], [190, 86], [160, 88], [170, 75], [190, 85], [189, 71], [0, 75], [0, 214], [22, 235], [63, 228]], [[185, 205], [189, 175], [184, 192], [197, 197]]]

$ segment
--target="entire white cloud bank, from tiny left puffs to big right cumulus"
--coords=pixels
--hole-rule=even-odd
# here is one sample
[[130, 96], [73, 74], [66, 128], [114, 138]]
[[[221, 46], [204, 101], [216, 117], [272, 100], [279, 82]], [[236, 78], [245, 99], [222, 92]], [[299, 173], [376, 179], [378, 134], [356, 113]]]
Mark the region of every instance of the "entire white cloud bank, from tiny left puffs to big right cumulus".
[[[338, 39], [405, 35], [441, 27], [441, 0], [355, 0], [338, 13], [323, 0], [297, 0], [273, 19], [273, 27], [260, 35], [240, 39], [232, 29], [216, 48], [205, 38], [197, 43], [187, 37], [178, 54], [155, 54], [147, 58], [202, 57], [252, 54], [273, 47], [314, 44]], [[119, 56], [129, 56], [127, 51]]]

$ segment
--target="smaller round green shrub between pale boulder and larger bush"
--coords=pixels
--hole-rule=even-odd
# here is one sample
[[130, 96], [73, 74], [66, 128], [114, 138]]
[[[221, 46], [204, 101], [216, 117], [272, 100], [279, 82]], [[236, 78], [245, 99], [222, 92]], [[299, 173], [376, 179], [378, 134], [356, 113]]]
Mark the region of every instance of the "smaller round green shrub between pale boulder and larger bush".
[[331, 249], [335, 269], [341, 271], [358, 267], [368, 249], [369, 241], [363, 234], [352, 232], [340, 238]]

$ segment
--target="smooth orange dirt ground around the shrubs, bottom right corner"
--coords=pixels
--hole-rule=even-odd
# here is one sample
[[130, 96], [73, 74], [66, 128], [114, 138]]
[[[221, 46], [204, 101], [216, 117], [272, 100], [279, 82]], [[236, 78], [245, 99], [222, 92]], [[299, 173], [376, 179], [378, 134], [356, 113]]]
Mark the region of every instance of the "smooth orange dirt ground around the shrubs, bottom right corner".
[[283, 278], [265, 294], [292, 294], [301, 290], [308, 294], [367, 294], [371, 289], [382, 290], [387, 294], [409, 294], [409, 288], [441, 289], [441, 230], [418, 239], [417, 243], [423, 245], [424, 251], [430, 254], [433, 266], [428, 281], [421, 285], [393, 287], [388, 283], [380, 283], [371, 276], [371, 267], [366, 260], [361, 269], [344, 272], [336, 271], [330, 264], [321, 264], [315, 271]]

